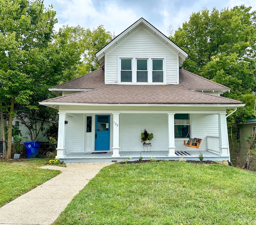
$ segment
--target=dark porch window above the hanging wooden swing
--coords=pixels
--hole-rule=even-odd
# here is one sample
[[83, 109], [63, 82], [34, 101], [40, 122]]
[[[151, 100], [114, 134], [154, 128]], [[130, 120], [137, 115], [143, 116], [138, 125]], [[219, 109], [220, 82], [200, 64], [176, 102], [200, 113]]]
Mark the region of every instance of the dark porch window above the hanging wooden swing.
[[189, 114], [174, 114], [174, 137], [190, 138]]

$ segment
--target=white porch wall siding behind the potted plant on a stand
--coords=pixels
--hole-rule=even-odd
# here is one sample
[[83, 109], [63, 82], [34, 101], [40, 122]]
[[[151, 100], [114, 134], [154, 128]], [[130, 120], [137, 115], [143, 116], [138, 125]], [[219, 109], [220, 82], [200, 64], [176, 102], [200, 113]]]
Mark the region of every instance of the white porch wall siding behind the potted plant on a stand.
[[167, 114], [122, 114], [120, 151], [143, 151], [141, 132], [146, 129], [154, 134], [152, 151], [168, 150]]

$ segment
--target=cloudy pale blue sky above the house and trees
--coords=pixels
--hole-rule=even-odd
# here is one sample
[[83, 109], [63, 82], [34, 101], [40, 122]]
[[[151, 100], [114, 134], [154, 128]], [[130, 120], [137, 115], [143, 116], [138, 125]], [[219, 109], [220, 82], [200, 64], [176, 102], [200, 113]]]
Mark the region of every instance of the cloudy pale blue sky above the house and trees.
[[45, 7], [51, 4], [58, 19], [55, 30], [64, 25], [91, 30], [103, 25], [114, 36], [141, 17], [169, 36], [170, 26], [177, 30], [203, 8], [211, 12], [214, 7], [222, 10], [244, 4], [256, 10], [256, 0], [44, 0]]

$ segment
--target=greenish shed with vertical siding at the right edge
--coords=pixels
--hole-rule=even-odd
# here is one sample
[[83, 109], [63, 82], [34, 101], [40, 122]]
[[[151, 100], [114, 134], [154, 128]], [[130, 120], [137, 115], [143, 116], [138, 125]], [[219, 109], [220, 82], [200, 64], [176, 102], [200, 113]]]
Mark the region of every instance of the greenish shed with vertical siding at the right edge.
[[246, 162], [249, 143], [246, 137], [252, 135], [256, 127], [256, 118], [248, 118], [246, 122], [237, 124], [237, 132], [229, 140], [230, 157], [233, 164], [237, 164], [238, 152], [240, 152], [240, 164], [244, 166]]

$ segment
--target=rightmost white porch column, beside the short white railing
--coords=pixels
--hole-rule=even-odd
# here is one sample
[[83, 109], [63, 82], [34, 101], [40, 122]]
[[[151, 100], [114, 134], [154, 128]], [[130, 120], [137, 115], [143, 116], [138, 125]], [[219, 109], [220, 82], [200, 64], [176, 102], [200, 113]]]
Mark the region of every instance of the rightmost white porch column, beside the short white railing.
[[219, 116], [219, 136], [220, 136], [220, 156], [229, 156], [228, 146], [228, 126], [225, 113], [218, 113]]

